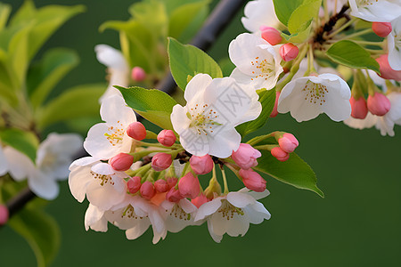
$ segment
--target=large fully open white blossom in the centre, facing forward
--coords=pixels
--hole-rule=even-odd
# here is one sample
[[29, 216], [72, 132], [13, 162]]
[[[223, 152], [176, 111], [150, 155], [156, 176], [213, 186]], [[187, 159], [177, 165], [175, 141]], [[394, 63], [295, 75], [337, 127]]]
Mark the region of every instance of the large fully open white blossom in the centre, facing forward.
[[257, 118], [262, 110], [255, 89], [231, 77], [198, 74], [186, 85], [184, 99], [184, 107], [173, 107], [171, 122], [183, 148], [194, 156], [231, 156], [241, 142], [235, 126]]

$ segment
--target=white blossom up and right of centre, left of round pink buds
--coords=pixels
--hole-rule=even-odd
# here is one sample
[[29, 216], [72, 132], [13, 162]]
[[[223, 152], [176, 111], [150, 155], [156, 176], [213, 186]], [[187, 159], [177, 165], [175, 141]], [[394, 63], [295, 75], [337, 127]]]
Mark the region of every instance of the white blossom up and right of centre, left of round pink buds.
[[268, 44], [258, 36], [248, 33], [237, 36], [228, 47], [230, 60], [236, 67], [230, 77], [256, 89], [272, 89], [282, 73], [279, 50], [279, 45]]

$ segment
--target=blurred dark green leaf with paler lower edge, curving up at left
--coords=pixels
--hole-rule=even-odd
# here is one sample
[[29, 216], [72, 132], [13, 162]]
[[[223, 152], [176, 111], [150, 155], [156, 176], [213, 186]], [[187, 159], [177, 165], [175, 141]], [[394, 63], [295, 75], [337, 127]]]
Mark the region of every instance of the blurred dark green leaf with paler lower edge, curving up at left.
[[56, 48], [45, 53], [43, 59], [29, 69], [27, 87], [30, 101], [37, 108], [61, 78], [78, 65], [78, 54], [70, 49]]

